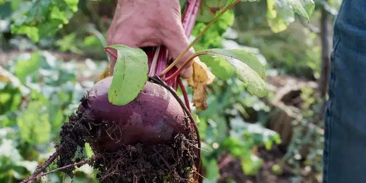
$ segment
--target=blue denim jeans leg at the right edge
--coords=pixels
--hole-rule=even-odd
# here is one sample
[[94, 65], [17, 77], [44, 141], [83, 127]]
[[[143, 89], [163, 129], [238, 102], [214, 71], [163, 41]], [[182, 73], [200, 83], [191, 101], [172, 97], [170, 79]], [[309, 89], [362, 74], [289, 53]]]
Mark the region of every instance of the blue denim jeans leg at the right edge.
[[334, 23], [323, 183], [366, 183], [366, 0], [343, 0]]

